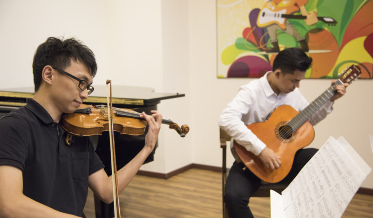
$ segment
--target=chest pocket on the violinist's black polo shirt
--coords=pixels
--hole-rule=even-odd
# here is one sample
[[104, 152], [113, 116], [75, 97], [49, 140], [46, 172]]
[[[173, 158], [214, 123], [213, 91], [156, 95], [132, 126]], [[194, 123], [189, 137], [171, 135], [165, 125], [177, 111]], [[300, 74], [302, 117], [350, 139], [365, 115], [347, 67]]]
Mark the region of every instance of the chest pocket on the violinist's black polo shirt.
[[72, 178], [87, 182], [89, 176], [89, 153], [72, 153]]

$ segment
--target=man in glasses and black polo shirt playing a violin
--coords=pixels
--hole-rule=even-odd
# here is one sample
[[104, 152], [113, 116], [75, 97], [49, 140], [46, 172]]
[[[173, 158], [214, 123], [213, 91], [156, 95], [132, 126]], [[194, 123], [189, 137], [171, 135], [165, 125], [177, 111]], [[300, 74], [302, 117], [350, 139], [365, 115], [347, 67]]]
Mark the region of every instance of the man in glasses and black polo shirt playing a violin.
[[[93, 52], [73, 38], [50, 37], [33, 61], [35, 95], [25, 107], [0, 119], [0, 217], [85, 217], [88, 187], [113, 201], [111, 176], [88, 137], [68, 145], [59, 124], [93, 92]], [[145, 146], [118, 171], [119, 193], [155, 147], [162, 115], [141, 115], [148, 123]]]

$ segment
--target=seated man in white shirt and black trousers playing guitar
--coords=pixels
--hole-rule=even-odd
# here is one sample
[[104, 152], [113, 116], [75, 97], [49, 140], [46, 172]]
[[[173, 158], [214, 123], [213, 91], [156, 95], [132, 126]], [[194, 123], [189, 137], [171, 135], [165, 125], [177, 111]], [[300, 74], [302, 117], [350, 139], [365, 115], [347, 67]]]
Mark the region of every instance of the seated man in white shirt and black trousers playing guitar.
[[[220, 128], [240, 144], [239, 146], [244, 146], [247, 151], [258, 156], [264, 166], [271, 170], [281, 168], [281, 156], [277, 156], [246, 125], [266, 121], [280, 105], [289, 105], [298, 111], [306, 108], [309, 104], [298, 88], [311, 62], [312, 58], [300, 48], [284, 49], [276, 56], [272, 71], [242, 86], [220, 115]], [[335, 94], [309, 119], [312, 125], [316, 125], [332, 111], [334, 100], [346, 93], [347, 86], [348, 84], [344, 83], [334, 87]], [[290, 183], [317, 151], [314, 148], [300, 149], [295, 154], [289, 174], [281, 182]], [[227, 178], [224, 199], [231, 218], [253, 217], [248, 206], [249, 198], [260, 185], [261, 179], [242, 162], [233, 163]]]

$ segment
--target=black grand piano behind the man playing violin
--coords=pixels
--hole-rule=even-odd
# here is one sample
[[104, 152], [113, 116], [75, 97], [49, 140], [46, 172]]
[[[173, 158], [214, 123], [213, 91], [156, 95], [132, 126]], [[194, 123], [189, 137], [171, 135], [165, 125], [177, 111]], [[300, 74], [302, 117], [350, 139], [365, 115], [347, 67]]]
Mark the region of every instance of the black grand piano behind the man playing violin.
[[[106, 86], [95, 86], [92, 95], [84, 101], [87, 105], [106, 105]], [[13, 109], [18, 109], [26, 105], [26, 98], [34, 96], [34, 87], [23, 87], [0, 90], [0, 117]], [[150, 114], [150, 110], [156, 110], [161, 100], [183, 97], [180, 93], [155, 93], [153, 88], [134, 86], [113, 86], [112, 104], [113, 107], [133, 109], [138, 112], [145, 111]], [[145, 134], [147, 129], [145, 129]], [[117, 169], [121, 169], [134, 156], [136, 156], [144, 146], [145, 134], [141, 136], [121, 135], [114, 132], [116, 146]], [[96, 153], [103, 161], [104, 170], [111, 175], [109, 134], [103, 132], [102, 136], [90, 137], [95, 146]], [[121, 145], [121, 146], [118, 146]], [[146, 158], [144, 163], [154, 160], [154, 153], [158, 146], [156, 144], [153, 152]], [[113, 204], [106, 204], [94, 197], [96, 218], [114, 217]]]

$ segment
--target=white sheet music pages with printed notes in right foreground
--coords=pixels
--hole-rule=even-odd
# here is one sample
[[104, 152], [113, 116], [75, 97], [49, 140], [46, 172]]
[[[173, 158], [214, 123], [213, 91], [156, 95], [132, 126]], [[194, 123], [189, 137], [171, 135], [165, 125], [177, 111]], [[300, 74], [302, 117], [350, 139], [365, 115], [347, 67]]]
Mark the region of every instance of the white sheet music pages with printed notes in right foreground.
[[330, 137], [282, 192], [284, 217], [341, 217], [370, 171], [343, 137]]

